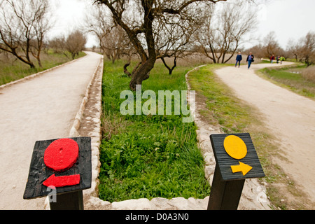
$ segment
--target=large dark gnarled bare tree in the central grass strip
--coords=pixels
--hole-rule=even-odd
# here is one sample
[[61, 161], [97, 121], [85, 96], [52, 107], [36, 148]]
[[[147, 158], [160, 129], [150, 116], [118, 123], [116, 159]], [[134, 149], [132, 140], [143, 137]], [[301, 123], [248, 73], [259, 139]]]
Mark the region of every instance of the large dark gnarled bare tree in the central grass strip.
[[[114, 22], [122, 27], [139, 57], [141, 65], [132, 74], [130, 88], [149, 78], [149, 73], [157, 58], [155, 49], [154, 23], [158, 18], [177, 16], [178, 20], [196, 18], [191, 10], [204, 7], [205, 3], [226, 0], [96, 0], [111, 10]], [[133, 15], [133, 16], [132, 16]]]

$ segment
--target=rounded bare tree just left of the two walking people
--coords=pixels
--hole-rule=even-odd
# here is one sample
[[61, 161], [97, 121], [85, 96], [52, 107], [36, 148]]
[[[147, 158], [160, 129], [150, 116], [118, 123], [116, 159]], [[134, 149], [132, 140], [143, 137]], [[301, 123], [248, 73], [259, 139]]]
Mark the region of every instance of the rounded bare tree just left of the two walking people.
[[244, 36], [255, 29], [255, 14], [255, 7], [244, 1], [214, 7], [195, 36], [204, 55], [214, 63], [228, 62], [245, 41]]

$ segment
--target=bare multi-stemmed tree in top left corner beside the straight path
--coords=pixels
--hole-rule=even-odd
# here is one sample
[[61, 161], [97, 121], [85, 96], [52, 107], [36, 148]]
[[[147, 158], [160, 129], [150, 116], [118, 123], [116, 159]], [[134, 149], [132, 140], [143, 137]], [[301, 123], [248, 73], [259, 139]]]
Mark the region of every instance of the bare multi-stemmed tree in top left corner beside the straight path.
[[41, 66], [43, 38], [50, 28], [46, 17], [48, 1], [5, 0], [1, 1], [0, 7], [0, 49], [34, 68], [32, 54]]

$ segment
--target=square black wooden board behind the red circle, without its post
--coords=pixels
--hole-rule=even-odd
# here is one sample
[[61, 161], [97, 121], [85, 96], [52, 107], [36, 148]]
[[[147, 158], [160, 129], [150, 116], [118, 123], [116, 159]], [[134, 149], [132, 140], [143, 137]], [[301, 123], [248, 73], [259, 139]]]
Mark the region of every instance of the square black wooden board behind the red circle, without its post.
[[[29, 167], [29, 176], [23, 195], [24, 199], [32, 199], [36, 197], [44, 197], [49, 195], [51, 189], [48, 186], [43, 185], [44, 181], [48, 178], [62, 179], [64, 181], [69, 176], [80, 176], [80, 179], [76, 179], [78, 183], [70, 184], [69, 181], [64, 181], [66, 185], [56, 187], [56, 194], [70, 193], [78, 190], [85, 190], [91, 188], [92, 181], [92, 163], [91, 163], [91, 138], [90, 137], [75, 137], [70, 138], [76, 141], [78, 146], [78, 157], [76, 161], [70, 165], [69, 169], [65, 171], [55, 171], [49, 169], [44, 162], [45, 150], [57, 139], [50, 139], [45, 141], [36, 141], [34, 146], [33, 155], [31, 158], [31, 165]], [[46, 162], [47, 163], [47, 162]], [[53, 176], [55, 174], [55, 176]]]

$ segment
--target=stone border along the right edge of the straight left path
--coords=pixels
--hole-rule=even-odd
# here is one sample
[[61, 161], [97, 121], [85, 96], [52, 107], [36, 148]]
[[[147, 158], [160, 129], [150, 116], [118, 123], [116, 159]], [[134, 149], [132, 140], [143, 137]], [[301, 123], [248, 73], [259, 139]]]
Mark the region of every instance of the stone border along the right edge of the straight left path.
[[[78, 113], [69, 132], [70, 137], [91, 137], [92, 149], [92, 183], [91, 188], [83, 190], [84, 209], [97, 209], [95, 202], [104, 204], [98, 197], [99, 183], [99, 146], [102, 141], [101, 114], [102, 114], [102, 79], [104, 57], [99, 59], [99, 64], [94, 70], [90, 83], [87, 85], [85, 95], [80, 104]], [[87, 106], [87, 104], [90, 104]], [[90, 123], [89, 127], [84, 124]]]

